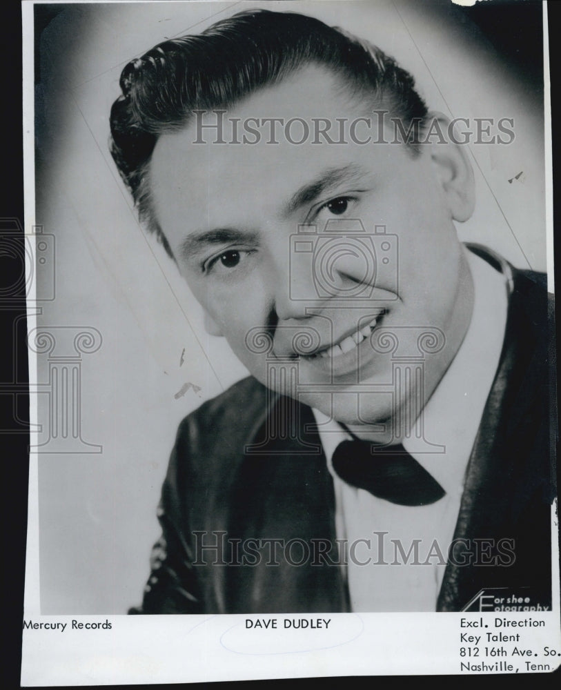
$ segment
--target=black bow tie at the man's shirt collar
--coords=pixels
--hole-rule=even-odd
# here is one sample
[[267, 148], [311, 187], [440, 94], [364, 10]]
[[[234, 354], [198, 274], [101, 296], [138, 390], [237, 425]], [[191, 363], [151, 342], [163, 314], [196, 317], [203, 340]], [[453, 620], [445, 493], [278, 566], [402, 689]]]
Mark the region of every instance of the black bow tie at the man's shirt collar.
[[402, 445], [384, 446], [378, 451], [368, 441], [343, 441], [335, 449], [331, 464], [347, 484], [403, 506], [435, 503], [445, 493]]

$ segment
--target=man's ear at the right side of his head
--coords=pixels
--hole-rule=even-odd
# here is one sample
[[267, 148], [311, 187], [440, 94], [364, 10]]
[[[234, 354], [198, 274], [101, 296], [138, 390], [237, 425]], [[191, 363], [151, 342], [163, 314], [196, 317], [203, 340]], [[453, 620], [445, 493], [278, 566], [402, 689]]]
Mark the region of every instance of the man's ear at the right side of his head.
[[[466, 221], [475, 208], [475, 180], [465, 146], [449, 136], [451, 122], [442, 112], [430, 112], [427, 128], [430, 155], [454, 220]], [[442, 136], [441, 136], [442, 134]]]

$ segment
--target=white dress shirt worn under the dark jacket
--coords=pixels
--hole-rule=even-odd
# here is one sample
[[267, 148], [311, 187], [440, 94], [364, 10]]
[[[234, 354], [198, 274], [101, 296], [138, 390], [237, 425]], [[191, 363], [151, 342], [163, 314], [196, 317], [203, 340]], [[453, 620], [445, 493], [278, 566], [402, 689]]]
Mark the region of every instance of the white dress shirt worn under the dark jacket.
[[[415, 454], [408, 440], [403, 442], [445, 495], [430, 505], [402, 506], [346, 484], [333, 471], [331, 458], [350, 436], [337, 422], [313, 411], [333, 476], [337, 539], [346, 540], [341, 542], [348, 563], [343, 567], [353, 611], [435, 611], [466, 466], [500, 359], [508, 306], [504, 275], [468, 250], [466, 258], [474, 283], [471, 322], [420, 415], [426, 440], [445, 451]], [[403, 551], [391, 540], [398, 540]]]

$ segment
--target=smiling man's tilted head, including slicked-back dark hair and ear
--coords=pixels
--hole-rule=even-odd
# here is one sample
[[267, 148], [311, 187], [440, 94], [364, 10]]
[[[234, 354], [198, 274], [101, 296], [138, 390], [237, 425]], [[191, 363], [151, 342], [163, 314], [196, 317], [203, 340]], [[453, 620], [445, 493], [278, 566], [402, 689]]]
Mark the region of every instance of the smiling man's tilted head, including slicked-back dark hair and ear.
[[[230, 126], [305, 127], [386, 110], [407, 130], [428, 115], [411, 76], [316, 19], [256, 11], [166, 41], [124, 69], [121, 88], [111, 115], [121, 175], [210, 331], [249, 371], [350, 426], [383, 422], [406, 401], [392, 397], [392, 353], [373, 339], [393, 329], [413, 356], [419, 328], [431, 328], [444, 342], [404, 393], [426, 400], [471, 314], [453, 226], [473, 204], [460, 149], [415, 135], [368, 146], [359, 137], [217, 144], [201, 140], [193, 112], [225, 110]], [[270, 347], [259, 348], [262, 336]]]

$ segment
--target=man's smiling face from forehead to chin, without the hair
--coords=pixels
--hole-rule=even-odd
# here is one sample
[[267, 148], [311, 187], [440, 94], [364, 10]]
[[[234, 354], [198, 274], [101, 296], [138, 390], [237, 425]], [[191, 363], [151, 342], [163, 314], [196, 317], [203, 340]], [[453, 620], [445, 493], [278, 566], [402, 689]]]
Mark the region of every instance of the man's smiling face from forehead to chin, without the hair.
[[[335, 123], [365, 110], [311, 66], [224, 121]], [[411, 396], [429, 397], [469, 324], [471, 276], [453, 226], [457, 158], [442, 144], [415, 158], [403, 144], [313, 144], [310, 136], [295, 145], [277, 131], [278, 144], [263, 130], [257, 144], [216, 144], [214, 130], [194, 144], [194, 121], [162, 135], [150, 166], [155, 214], [195, 297], [250, 373], [368, 429]], [[291, 130], [293, 140], [301, 132]], [[408, 358], [418, 362], [422, 329], [442, 342], [421, 354], [421, 382], [396, 386], [396, 362], [403, 375]], [[397, 345], [384, 351], [389, 334]], [[271, 348], [259, 348], [264, 338]]]

